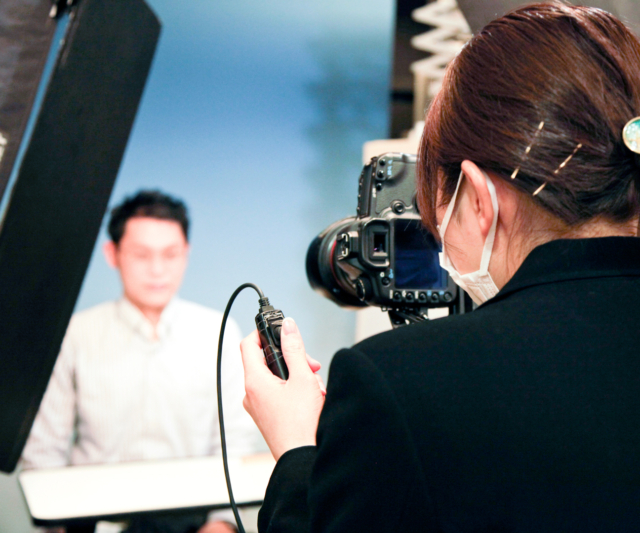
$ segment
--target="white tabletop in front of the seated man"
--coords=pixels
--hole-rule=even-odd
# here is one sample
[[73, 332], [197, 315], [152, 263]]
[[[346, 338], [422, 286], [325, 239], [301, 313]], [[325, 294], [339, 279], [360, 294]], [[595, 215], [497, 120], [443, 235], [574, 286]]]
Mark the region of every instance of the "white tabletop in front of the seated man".
[[[274, 466], [271, 455], [230, 459], [238, 505], [262, 503]], [[27, 470], [19, 481], [36, 525], [230, 507], [221, 457]]]

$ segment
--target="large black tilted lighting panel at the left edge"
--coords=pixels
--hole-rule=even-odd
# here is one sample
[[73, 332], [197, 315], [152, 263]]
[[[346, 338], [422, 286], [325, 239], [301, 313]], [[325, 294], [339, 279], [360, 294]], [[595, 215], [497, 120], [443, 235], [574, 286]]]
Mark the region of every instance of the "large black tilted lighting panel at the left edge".
[[143, 0], [0, 2], [2, 471], [49, 381], [159, 33]]

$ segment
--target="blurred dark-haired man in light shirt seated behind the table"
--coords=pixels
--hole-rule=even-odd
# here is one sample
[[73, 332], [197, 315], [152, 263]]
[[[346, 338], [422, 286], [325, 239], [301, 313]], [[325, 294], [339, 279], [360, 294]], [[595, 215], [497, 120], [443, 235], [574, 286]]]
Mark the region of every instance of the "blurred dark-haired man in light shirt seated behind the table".
[[[111, 212], [104, 252], [123, 296], [74, 315], [23, 452], [23, 468], [217, 454], [216, 351], [222, 314], [179, 299], [189, 252], [185, 205], [141, 191]], [[223, 394], [229, 453], [255, 451], [242, 407], [241, 335], [227, 322]], [[221, 515], [218, 514], [218, 517]], [[132, 530], [235, 531], [233, 514]], [[199, 523], [194, 526], [194, 520]], [[228, 522], [227, 522], [228, 521]], [[165, 523], [166, 522], [166, 523]], [[169, 524], [171, 522], [171, 524]]]

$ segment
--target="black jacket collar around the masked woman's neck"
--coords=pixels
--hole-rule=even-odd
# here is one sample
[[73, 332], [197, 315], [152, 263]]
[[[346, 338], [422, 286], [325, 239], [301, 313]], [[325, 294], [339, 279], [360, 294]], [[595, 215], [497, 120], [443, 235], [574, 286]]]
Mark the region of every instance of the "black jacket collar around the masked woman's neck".
[[485, 305], [535, 285], [621, 276], [640, 276], [640, 238], [558, 239], [534, 248]]

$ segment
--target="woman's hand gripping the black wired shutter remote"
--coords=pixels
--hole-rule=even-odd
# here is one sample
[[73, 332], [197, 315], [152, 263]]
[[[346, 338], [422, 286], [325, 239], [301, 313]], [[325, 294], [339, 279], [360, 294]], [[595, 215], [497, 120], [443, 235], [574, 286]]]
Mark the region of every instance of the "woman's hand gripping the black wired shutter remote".
[[280, 342], [289, 369], [287, 381], [267, 367], [257, 331], [240, 344], [246, 390], [243, 405], [276, 461], [288, 450], [315, 445], [326, 393], [320, 376], [314, 374], [320, 363], [306, 354], [293, 319], [284, 319]]

